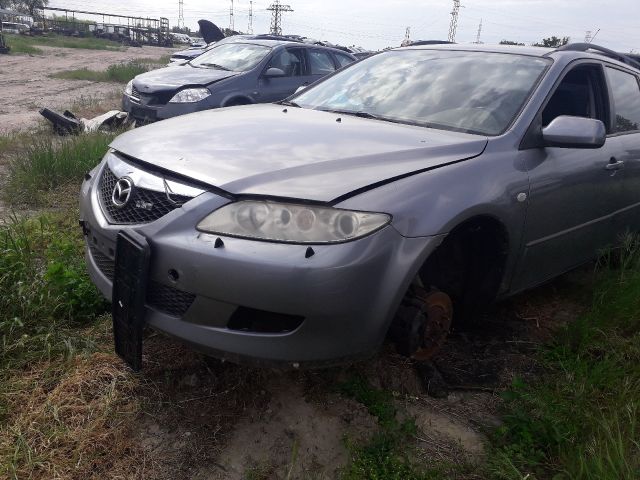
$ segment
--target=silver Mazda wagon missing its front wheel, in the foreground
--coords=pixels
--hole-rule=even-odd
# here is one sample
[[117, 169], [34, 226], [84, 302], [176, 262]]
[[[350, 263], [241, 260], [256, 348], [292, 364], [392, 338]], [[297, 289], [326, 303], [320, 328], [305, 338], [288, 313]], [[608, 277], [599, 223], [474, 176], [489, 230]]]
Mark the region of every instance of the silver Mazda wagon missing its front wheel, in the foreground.
[[638, 67], [410, 47], [121, 135], [80, 201], [116, 350], [140, 368], [148, 325], [237, 362], [340, 363], [387, 335], [427, 358], [454, 313], [640, 230]]

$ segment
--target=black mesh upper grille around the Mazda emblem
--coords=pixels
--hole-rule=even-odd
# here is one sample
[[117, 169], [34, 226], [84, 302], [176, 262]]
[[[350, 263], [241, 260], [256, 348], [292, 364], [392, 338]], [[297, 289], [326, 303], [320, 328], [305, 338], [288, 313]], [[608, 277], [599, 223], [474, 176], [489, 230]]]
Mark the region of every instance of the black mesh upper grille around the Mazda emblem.
[[117, 207], [113, 204], [112, 196], [118, 180], [111, 169], [105, 166], [99, 185], [100, 204], [113, 224], [132, 225], [153, 222], [191, 200], [191, 197], [183, 195], [171, 195], [169, 199], [165, 192], [134, 186], [129, 201], [123, 207]]

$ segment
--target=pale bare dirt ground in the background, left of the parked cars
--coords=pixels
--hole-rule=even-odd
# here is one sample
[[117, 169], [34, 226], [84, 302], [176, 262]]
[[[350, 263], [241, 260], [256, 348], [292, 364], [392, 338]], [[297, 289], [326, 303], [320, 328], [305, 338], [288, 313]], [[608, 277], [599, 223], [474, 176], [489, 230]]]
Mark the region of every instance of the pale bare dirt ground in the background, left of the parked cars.
[[85, 99], [117, 95], [122, 85], [62, 80], [49, 75], [64, 70], [106, 70], [109, 65], [138, 58], [158, 59], [176, 49], [128, 47], [125, 51], [41, 47], [39, 55], [0, 55], [0, 133], [32, 126], [42, 107], [68, 108]]

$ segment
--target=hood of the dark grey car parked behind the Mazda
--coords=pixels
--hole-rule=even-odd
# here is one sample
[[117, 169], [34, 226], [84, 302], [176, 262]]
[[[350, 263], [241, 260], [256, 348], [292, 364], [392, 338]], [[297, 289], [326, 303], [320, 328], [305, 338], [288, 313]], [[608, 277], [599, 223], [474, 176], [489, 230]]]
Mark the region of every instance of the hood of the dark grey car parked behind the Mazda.
[[165, 67], [143, 73], [133, 80], [133, 85], [139, 92], [155, 93], [186, 86], [209, 85], [234, 75], [238, 75], [238, 72], [185, 65], [184, 68]]

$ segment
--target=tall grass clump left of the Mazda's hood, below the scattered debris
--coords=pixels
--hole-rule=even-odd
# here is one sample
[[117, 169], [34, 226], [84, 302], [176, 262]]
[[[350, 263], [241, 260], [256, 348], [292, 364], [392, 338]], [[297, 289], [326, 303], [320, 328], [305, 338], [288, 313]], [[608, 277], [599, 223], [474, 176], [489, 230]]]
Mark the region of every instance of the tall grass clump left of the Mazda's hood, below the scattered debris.
[[114, 137], [102, 132], [32, 137], [9, 162], [5, 201], [14, 206], [41, 205], [46, 194], [72, 184], [75, 202], [82, 176], [100, 162]]

